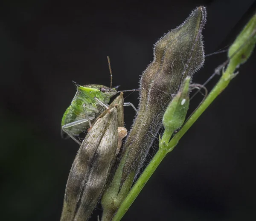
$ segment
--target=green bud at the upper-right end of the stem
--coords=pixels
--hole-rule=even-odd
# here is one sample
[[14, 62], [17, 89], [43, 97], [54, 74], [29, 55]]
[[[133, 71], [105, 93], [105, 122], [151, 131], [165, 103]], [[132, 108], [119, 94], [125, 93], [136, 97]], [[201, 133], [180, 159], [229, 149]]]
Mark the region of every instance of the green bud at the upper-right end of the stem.
[[250, 19], [230, 46], [228, 57], [238, 65], [247, 61], [256, 44], [256, 14]]

